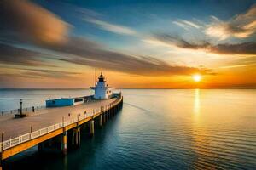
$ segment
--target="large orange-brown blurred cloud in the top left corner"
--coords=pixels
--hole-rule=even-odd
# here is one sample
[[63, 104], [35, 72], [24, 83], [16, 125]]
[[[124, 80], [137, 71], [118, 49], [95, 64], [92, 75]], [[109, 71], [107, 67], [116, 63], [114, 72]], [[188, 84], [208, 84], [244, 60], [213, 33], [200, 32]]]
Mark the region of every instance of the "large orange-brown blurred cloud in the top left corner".
[[55, 14], [29, 1], [3, 0], [0, 5], [0, 38], [35, 43], [66, 41], [69, 25]]

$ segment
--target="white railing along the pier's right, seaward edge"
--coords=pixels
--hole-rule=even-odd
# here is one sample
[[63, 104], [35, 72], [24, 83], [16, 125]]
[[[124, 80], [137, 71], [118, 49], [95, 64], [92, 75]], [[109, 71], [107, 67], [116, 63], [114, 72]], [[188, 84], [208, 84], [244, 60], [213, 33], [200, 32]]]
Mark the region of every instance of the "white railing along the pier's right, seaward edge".
[[60, 129], [62, 127], [66, 127], [66, 126], [68, 126], [70, 124], [73, 124], [75, 122], [82, 121], [82, 120], [84, 120], [84, 119], [86, 119], [90, 116], [94, 116], [94, 115], [97, 115], [99, 113], [108, 111], [109, 109], [113, 108], [115, 105], [118, 105], [119, 102], [123, 99], [121, 94], [118, 94], [117, 97], [118, 98], [116, 100], [114, 100], [112, 103], [110, 103], [109, 105], [102, 105], [100, 107], [100, 109], [90, 110], [89, 112], [84, 111], [84, 115], [77, 114], [77, 116], [78, 116], [77, 118], [69, 119], [67, 121], [58, 122], [58, 123], [56, 123], [54, 125], [51, 125], [49, 127], [44, 127], [44, 128], [38, 129], [37, 131], [31, 132], [31, 133], [26, 133], [26, 134], [20, 135], [18, 137], [15, 137], [13, 139], [5, 140], [2, 143], [0, 143], [0, 152], [2, 150], [7, 150], [7, 149], [9, 149], [9, 148], [11, 148], [15, 145], [22, 144], [22, 143], [24, 143], [28, 140], [36, 139], [40, 136], [43, 136], [46, 133], [50, 133], [50, 132], [53, 132], [53, 131], [55, 131], [57, 129]]

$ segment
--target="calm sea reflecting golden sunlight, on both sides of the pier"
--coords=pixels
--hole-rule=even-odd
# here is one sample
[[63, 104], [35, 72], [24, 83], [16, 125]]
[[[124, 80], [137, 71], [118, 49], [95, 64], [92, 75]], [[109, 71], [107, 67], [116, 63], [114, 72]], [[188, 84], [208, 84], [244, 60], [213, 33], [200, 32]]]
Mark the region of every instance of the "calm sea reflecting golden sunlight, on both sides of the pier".
[[[8, 169], [256, 169], [255, 89], [122, 90], [124, 106], [66, 158], [27, 150]], [[0, 111], [90, 90], [0, 90]], [[0, 129], [1, 130], [1, 129]]]

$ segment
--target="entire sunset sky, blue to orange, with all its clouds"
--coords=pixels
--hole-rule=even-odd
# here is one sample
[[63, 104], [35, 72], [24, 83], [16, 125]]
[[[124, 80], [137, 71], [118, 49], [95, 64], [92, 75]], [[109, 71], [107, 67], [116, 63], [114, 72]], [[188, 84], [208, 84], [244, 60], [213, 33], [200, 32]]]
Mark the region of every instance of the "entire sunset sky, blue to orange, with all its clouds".
[[116, 88], [256, 88], [256, 1], [0, 2], [0, 88], [89, 88], [95, 71]]

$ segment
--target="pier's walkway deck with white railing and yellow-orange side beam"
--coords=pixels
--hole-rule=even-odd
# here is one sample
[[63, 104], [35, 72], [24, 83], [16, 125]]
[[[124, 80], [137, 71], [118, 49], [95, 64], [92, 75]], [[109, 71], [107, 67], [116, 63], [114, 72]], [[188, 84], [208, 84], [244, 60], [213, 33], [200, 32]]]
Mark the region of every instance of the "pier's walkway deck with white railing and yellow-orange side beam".
[[[29, 149], [57, 135], [67, 135], [67, 130], [92, 122], [97, 116], [117, 111], [123, 102], [119, 94], [113, 99], [94, 100], [81, 105], [47, 108], [32, 116], [15, 119], [14, 115], [0, 116], [0, 161]], [[111, 113], [111, 112], [110, 112]], [[92, 125], [94, 128], [94, 125]], [[64, 143], [67, 138], [63, 138]], [[64, 147], [65, 148], [65, 147]], [[67, 149], [67, 144], [66, 144]], [[0, 164], [1, 169], [1, 164]]]

